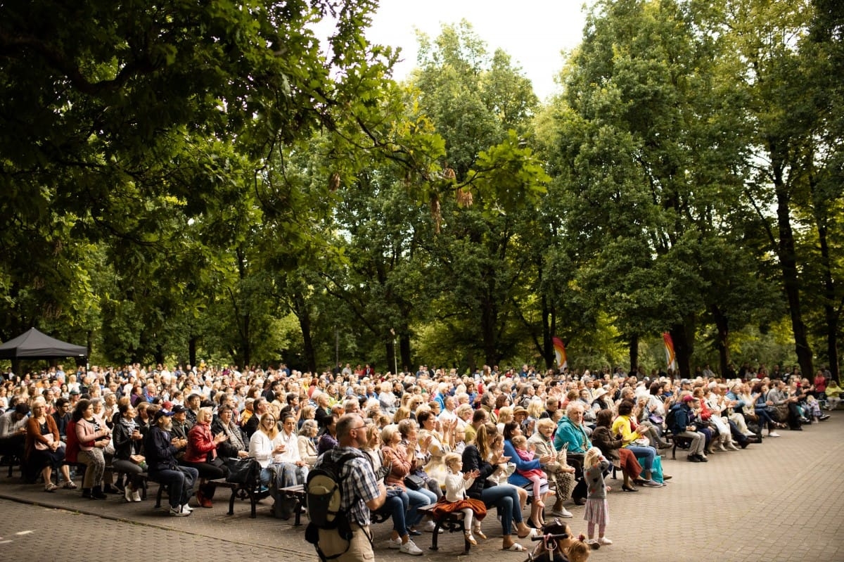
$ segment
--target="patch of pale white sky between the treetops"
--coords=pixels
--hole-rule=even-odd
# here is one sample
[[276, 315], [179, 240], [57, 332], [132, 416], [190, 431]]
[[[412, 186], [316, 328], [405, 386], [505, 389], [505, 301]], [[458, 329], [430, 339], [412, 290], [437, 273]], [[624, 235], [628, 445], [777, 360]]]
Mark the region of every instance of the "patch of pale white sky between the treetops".
[[393, 78], [401, 80], [416, 66], [416, 33], [431, 39], [442, 24], [466, 19], [486, 42], [490, 55], [501, 48], [515, 67], [533, 82], [545, 100], [557, 91], [555, 76], [563, 68], [560, 51], [581, 42], [586, 16], [584, 0], [380, 0], [367, 38], [372, 43], [402, 47], [403, 62]]

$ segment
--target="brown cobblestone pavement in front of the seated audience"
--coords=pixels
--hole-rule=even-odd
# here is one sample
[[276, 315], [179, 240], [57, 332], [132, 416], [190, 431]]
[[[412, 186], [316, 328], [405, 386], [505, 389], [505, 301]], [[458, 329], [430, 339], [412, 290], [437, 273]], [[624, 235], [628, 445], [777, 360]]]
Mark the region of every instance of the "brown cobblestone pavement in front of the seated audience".
[[[836, 536], [844, 515], [844, 412], [802, 432], [782, 430], [746, 451], [719, 452], [706, 464], [663, 459], [674, 478], [662, 489], [642, 488], [622, 493], [620, 480], [608, 478], [610, 523], [607, 537], [614, 544], [592, 554], [592, 560], [614, 562], [844, 562], [844, 546]], [[272, 500], [249, 517], [246, 502], [228, 511], [227, 490], [220, 489], [214, 508], [189, 517], [156, 511], [154, 491], [143, 503], [127, 504], [122, 496], [83, 500], [78, 490], [53, 494], [40, 486], [20, 484], [17, 473], [0, 472], [0, 559], [38, 562], [112, 559], [244, 559], [272, 557], [289, 562], [316, 562], [304, 539], [304, 526], [269, 515]], [[571, 526], [585, 532], [583, 508]], [[390, 526], [376, 525], [378, 560], [408, 559], [387, 549]], [[525, 554], [501, 552], [495, 511], [484, 521], [490, 537], [472, 549], [473, 557], [522, 562]], [[463, 549], [457, 534], [441, 535], [440, 549], [430, 551], [431, 536], [416, 543], [425, 559], [452, 559]], [[520, 541], [528, 545], [527, 540]]]

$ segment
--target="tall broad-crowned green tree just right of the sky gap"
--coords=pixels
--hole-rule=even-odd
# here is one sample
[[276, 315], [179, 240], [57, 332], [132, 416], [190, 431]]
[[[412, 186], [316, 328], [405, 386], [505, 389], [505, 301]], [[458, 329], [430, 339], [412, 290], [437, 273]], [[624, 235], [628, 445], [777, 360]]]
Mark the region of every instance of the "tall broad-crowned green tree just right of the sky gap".
[[710, 250], [742, 186], [746, 127], [713, 25], [697, 4], [596, 3], [551, 141], [578, 283], [631, 340], [668, 329], [685, 376], [707, 296], [717, 302]]

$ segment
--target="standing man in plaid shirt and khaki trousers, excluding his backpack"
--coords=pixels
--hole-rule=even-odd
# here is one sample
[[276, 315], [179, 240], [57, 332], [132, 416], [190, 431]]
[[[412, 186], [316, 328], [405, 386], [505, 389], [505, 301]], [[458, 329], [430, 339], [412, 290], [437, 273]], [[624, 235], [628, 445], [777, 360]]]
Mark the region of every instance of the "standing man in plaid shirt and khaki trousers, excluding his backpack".
[[[387, 488], [376, 478], [368, 457], [360, 452], [366, 443], [366, 424], [357, 413], [347, 413], [337, 421], [338, 447], [326, 451], [314, 464], [312, 473], [319, 473], [321, 467], [337, 467], [340, 505], [337, 520], [330, 525], [315, 525], [316, 513], [311, 513], [306, 538], [314, 543], [320, 559], [338, 562], [360, 562], [375, 560], [370, 532], [370, 512], [376, 511], [387, 500]], [[343, 462], [341, 461], [341, 458]], [[309, 478], [310, 482], [310, 478]], [[309, 500], [310, 501], [310, 500]], [[311, 511], [315, 505], [309, 503]], [[324, 515], [324, 514], [322, 514]], [[322, 516], [319, 516], [323, 519]], [[334, 517], [330, 517], [334, 521]], [[348, 524], [345, 522], [348, 521]], [[333, 527], [333, 528], [331, 528]], [[318, 536], [311, 533], [314, 530]], [[313, 533], [316, 534], [316, 533]]]

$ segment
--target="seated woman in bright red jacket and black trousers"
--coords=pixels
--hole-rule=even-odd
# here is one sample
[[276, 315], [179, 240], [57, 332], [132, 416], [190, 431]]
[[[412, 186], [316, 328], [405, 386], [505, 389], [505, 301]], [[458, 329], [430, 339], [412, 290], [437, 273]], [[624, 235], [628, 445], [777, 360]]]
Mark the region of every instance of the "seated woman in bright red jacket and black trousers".
[[197, 424], [187, 432], [187, 450], [181, 464], [193, 467], [199, 471], [199, 486], [197, 487], [197, 501], [203, 507], [213, 507], [216, 486], [208, 480], [225, 478], [229, 469], [225, 462], [217, 455], [217, 446], [228, 439], [225, 433], [211, 434], [211, 419], [214, 413], [211, 408], [199, 408]]

